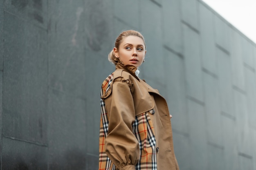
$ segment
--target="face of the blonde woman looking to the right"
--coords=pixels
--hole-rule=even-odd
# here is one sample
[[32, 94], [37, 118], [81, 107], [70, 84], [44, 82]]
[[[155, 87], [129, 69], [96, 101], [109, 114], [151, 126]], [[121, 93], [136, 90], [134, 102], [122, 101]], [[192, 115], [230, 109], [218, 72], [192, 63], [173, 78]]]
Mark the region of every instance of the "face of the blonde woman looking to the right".
[[115, 56], [126, 65], [133, 65], [139, 67], [145, 57], [146, 50], [144, 41], [137, 36], [128, 36], [124, 38], [123, 42], [119, 45], [119, 50], [114, 48]]

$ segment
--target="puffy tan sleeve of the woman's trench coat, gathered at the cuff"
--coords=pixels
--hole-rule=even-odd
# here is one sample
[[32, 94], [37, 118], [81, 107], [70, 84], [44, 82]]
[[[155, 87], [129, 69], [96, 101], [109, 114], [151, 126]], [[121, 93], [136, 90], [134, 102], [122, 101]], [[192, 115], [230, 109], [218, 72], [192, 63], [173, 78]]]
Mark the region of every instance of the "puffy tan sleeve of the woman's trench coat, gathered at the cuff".
[[112, 84], [112, 97], [105, 100], [110, 104], [106, 153], [119, 170], [135, 170], [139, 160], [139, 142], [132, 132], [135, 108], [131, 88], [129, 79], [119, 77]]

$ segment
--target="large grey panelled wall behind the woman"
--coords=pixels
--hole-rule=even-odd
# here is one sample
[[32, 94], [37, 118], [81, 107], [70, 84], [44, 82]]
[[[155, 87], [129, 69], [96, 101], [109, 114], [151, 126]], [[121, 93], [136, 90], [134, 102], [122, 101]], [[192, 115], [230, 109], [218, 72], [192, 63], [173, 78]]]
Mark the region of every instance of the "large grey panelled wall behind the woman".
[[166, 97], [181, 170], [256, 170], [256, 44], [201, 0], [0, 0], [2, 170], [95, 170], [122, 30]]

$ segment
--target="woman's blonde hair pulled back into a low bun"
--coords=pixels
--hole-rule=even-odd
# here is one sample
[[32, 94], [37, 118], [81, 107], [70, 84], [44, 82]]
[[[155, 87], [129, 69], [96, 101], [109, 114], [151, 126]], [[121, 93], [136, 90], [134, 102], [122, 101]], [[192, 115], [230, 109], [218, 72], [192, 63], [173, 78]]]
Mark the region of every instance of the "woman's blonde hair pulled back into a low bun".
[[[141, 33], [139, 33], [138, 31], [135, 30], [127, 30], [127, 31], [123, 31], [116, 39], [115, 42], [115, 47], [117, 48], [117, 51], [119, 49], [119, 45], [123, 42], [124, 38], [128, 37], [128, 36], [136, 36], [139, 37], [143, 40], [145, 48], [146, 48], [146, 44], [145, 44], [145, 40], [144, 37]], [[115, 53], [114, 50], [112, 50], [109, 54], [108, 54], [108, 60], [110, 62], [112, 62], [113, 64], [117, 64], [114, 60], [115, 60]]]

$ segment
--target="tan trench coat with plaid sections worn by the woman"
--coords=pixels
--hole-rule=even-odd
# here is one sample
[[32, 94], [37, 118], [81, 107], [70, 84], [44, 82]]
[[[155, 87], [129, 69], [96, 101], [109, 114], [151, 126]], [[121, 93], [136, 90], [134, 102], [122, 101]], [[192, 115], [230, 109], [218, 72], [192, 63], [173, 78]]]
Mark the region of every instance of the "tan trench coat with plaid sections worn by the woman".
[[[156, 89], [139, 79], [135, 75], [136, 70], [135, 66], [124, 66], [118, 62], [116, 71], [112, 73], [112, 80], [108, 82], [107, 91], [104, 92], [103, 90], [101, 95], [108, 119], [108, 135], [105, 137], [100, 135], [99, 169], [104, 169], [106, 166], [104, 165], [102, 168], [104, 162], [102, 157], [108, 157], [112, 166], [120, 170], [143, 168], [148, 170], [179, 170], [173, 149], [173, 134], [166, 100]], [[102, 86], [106, 86], [106, 83], [103, 83]], [[103, 88], [106, 90], [106, 87]], [[141, 115], [144, 115], [144, 118], [143, 116], [138, 118]], [[141, 127], [136, 133], [134, 124], [137, 119], [147, 119], [143, 122], [147, 125], [143, 127], [152, 128], [154, 144], [148, 144], [149, 135], [145, 137], [145, 141], [147, 141], [144, 142]], [[101, 124], [101, 126], [103, 125]], [[101, 127], [101, 132], [102, 129], [103, 127]], [[101, 144], [104, 147], [101, 147]], [[107, 156], [103, 156], [102, 153], [106, 153]], [[145, 153], [146, 155], [155, 154], [157, 164], [155, 168], [153, 168], [155, 163], [150, 166], [146, 165], [148, 163], [145, 162], [148, 162], [149, 159], [155, 159], [154, 156], [142, 156]]]

